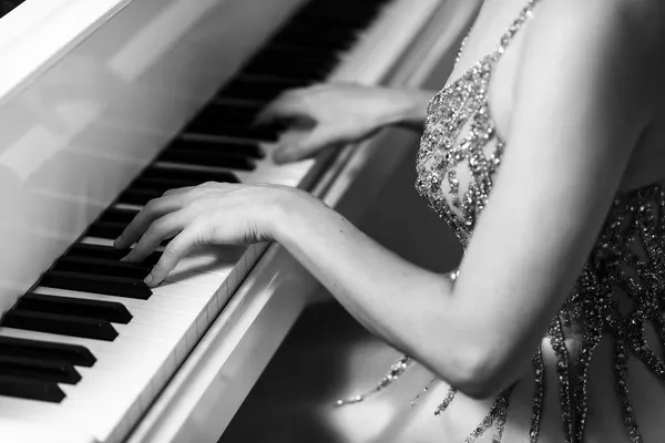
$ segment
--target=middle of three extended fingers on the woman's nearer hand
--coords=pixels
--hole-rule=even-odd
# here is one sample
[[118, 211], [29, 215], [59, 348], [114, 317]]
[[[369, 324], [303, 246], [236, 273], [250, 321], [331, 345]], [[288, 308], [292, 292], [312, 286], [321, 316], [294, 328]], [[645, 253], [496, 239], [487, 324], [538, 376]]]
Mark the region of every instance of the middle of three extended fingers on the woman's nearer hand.
[[141, 236], [141, 239], [132, 248], [130, 254], [122, 258], [121, 261], [143, 261], [163, 240], [174, 237], [190, 225], [193, 218], [194, 215], [191, 207], [157, 218], [150, 225], [145, 234]]

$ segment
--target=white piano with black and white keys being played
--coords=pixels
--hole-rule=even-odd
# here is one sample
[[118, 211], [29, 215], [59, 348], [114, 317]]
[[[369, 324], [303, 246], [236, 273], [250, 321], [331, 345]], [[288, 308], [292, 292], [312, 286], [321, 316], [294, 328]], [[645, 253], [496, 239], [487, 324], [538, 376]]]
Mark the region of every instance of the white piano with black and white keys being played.
[[112, 239], [166, 188], [207, 181], [299, 186], [358, 220], [412, 135], [275, 166], [257, 143], [278, 128], [249, 123], [317, 81], [421, 86], [454, 8], [4, 3], [0, 442], [216, 442], [317, 282], [278, 245], [207, 247], [151, 291], [150, 262], [117, 261]]

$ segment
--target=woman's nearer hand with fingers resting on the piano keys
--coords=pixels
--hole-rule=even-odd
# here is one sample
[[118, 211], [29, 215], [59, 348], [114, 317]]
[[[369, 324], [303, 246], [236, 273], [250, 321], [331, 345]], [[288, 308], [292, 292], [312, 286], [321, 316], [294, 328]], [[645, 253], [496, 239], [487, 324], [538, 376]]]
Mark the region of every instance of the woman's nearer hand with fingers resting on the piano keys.
[[286, 186], [224, 183], [171, 189], [149, 202], [114, 246], [126, 249], [136, 241], [123, 260], [142, 261], [164, 239], [173, 238], [145, 278], [149, 286], [155, 286], [195, 246], [272, 240], [275, 209], [298, 194]]

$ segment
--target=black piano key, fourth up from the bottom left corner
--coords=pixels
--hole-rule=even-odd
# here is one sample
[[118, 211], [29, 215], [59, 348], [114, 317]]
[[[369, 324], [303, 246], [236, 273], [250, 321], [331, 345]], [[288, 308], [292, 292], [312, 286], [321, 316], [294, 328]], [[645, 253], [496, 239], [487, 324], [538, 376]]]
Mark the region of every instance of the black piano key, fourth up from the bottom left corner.
[[16, 308], [4, 313], [0, 326], [104, 341], [113, 341], [117, 337], [117, 331], [106, 320], [24, 311]]

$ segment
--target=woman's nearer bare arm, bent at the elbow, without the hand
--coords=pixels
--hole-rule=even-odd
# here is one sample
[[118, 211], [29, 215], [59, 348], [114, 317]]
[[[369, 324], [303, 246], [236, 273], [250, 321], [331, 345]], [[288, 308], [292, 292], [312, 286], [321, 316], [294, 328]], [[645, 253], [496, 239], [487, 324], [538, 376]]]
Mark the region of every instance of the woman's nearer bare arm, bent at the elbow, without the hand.
[[[594, 11], [595, 28], [565, 4], [533, 20], [502, 168], [454, 288], [319, 203], [296, 200], [278, 218], [275, 239], [359, 321], [470, 395], [497, 392], [528, 364], [647, 121], [621, 13], [596, 9], [606, 16]], [[553, 40], [562, 23], [569, 32]]]

